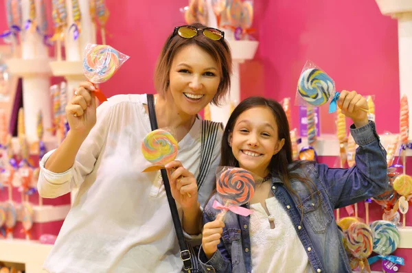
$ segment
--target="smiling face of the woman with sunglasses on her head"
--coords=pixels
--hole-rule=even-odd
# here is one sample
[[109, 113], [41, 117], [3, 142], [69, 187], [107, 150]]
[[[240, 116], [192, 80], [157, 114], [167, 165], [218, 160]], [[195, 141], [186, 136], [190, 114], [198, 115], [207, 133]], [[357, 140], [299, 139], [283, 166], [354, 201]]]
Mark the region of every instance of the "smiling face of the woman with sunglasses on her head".
[[220, 67], [204, 49], [188, 45], [174, 56], [169, 79], [176, 107], [187, 115], [196, 115], [216, 95]]

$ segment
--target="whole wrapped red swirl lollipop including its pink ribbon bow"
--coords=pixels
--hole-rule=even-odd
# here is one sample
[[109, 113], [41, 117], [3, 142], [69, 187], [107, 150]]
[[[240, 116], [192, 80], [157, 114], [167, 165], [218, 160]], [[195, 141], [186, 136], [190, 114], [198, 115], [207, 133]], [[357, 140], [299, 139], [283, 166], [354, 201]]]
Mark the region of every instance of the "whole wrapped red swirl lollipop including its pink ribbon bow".
[[251, 214], [249, 209], [240, 205], [249, 202], [255, 194], [255, 176], [250, 171], [236, 167], [223, 167], [218, 171], [216, 191], [218, 197], [225, 204], [214, 201], [214, 209], [221, 209], [222, 214], [227, 211], [247, 216]]

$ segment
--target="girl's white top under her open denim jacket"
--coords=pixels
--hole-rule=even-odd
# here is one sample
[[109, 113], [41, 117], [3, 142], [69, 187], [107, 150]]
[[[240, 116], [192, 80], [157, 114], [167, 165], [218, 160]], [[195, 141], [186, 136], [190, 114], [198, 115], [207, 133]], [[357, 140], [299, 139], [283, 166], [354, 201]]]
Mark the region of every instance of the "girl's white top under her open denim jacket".
[[275, 217], [271, 229], [268, 214], [262, 204], [251, 204], [250, 219], [252, 272], [313, 272], [288, 213], [273, 196], [266, 208]]

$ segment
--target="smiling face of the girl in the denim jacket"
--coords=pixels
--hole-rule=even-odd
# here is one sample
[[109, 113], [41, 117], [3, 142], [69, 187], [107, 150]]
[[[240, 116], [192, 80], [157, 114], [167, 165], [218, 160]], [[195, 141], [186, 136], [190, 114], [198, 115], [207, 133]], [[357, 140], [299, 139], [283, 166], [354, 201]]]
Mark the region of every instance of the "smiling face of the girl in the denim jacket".
[[270, 108], [259, 106], [242, 112], [229, 134], [239, 167], [264, 178], [272, 156], [284, 145], [285, 140], [277, 136], [277, 122]]

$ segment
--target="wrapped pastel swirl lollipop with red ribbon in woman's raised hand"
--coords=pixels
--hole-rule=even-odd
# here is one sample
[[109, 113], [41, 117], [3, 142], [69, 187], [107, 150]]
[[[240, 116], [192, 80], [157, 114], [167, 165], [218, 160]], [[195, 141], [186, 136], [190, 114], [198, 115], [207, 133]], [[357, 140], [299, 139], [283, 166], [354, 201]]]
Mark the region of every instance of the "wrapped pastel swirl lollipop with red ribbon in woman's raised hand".
[[[111, 46], [88, 44], [84, 52], [83, 73], [93, 85], [101, 84], [110, 79], [128, 58]], [[98, 88], [95, 95], [100, 102], [107, 100]]]

